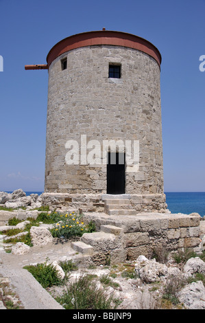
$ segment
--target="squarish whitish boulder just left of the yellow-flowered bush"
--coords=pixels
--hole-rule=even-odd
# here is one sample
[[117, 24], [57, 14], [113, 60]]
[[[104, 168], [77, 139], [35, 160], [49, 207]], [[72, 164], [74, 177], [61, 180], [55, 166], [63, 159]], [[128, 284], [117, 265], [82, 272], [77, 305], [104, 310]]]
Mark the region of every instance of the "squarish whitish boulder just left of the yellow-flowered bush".
[[47, 245], [53, 241], [53, 236], [47, 227], [31, 227], [30, 234], [33, 245]]

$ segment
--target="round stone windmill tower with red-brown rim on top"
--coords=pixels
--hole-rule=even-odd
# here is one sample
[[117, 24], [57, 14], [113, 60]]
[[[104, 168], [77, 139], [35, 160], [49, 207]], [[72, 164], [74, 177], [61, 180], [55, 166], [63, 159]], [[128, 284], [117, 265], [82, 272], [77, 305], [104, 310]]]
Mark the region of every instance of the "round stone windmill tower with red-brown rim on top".
[[45, 203], [104, 212], [108, 198], [134, 212], [165, 212], [158, 49], [106, 30], [51, 48]]

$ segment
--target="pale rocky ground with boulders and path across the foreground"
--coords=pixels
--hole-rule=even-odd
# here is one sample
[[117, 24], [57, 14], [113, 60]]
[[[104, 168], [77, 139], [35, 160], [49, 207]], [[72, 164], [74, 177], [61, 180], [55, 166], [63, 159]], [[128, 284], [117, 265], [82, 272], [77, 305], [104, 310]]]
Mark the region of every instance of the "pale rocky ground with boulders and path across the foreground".
[[[25, 199], [21, 190], [9, 196], [0, 194], [1, 205], [7, 202], [10, 207], [11, 203], [19, 205], [19, 199], [22, 203], [29, 201], [27, 211], [33, 210], [34, 205], [41, 205], [38, 197]], [[200, 222], [203, 238], [205, 221]], [[3, 229], [2, 223], [0, 225]], [[70, 273], [67, 287], [77, 278], [89, 275], [99, 289], [104, 289], [109, 295], [113, 293], [118, 300], [117, 309], [205, 309], [205, 263], [200, 255], [179, 263], [173, 254], [169, 254], [166, 261], [161, 261], [159, 256], [162, 255], [159, 254], [152, 259], [141, 255], [133, 262], [95, 267], [88, 256], [76, 254], [71, 241], [50, 239], [45, 225], [40, 227], [40, 235], [37, 231], [34, 229], [33, 232], [38, 241], [34, 247], [28, 249], [25, 244], [16, 244], [11, 253], [5, 252], [3, 236], [0, 235], [0, 309], [63, 309], [54, 298], [62, 295], [66, 285], [45, 290], [23, 267], [55, 263], [56, 269], [63, 274], [59, 263], [66, 260], [72, 260], [78, 267]], [[46, 241], [46, 244], [39, 241]]]

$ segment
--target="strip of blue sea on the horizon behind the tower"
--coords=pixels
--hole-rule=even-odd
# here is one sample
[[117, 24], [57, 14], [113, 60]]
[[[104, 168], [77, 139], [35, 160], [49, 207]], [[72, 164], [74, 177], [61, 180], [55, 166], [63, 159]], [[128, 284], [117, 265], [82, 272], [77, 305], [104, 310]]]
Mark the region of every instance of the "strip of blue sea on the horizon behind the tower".
[[[25, 192], [27, 195], [43, 192]], [[165, 192], [167, 208], [171, 213], [190, 214], [197, 212], [205, 215], [205, 192]]]

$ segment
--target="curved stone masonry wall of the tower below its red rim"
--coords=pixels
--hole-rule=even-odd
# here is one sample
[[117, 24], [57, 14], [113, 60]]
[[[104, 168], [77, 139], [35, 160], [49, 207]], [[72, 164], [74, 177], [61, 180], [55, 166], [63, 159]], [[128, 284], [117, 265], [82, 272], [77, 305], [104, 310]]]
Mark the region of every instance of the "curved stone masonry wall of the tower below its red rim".
[[[61, 59], [67, 57], [62, 71]], [[109, 63], [121, 78], [108, 78]], [[67, 165], [68, 140], [138, 140], [137, 172], [125, 170], [125, 193], [162, 194], [160, 67], [136, 49], [91, 46], [73, 49], [49, 67], [45, 192], [106, 193], [106, 165]]]

